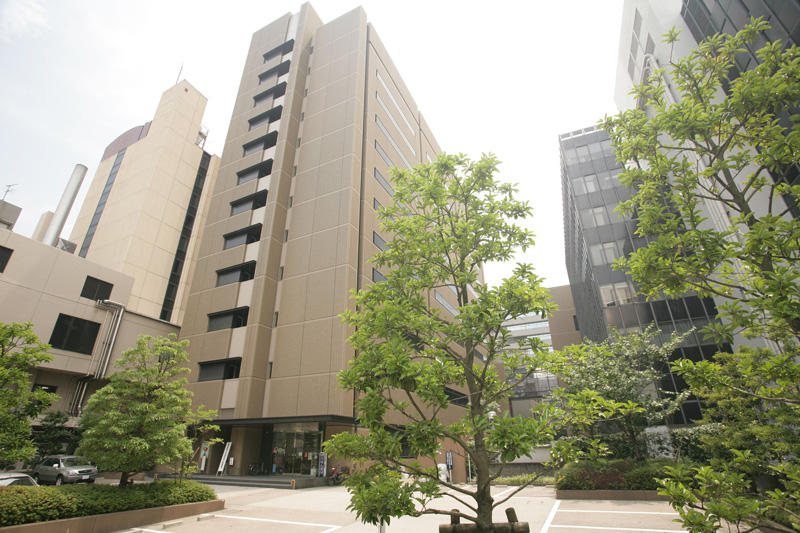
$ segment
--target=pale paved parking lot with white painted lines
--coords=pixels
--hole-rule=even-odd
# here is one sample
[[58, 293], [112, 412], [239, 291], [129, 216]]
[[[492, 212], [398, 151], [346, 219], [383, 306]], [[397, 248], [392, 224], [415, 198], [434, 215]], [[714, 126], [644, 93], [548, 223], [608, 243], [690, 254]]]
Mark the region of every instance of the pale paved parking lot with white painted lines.
[[[303, 490], [214, 486], [225, 509], [214, 514], [183, 518], [127, 530], [159, 533], [351, 533], [377, 532], [377, 526], [362, 524], [348, 511], [349, 497], [343, 487]], [[495, 497], [513, 487], [496, 487]], [[437, 507], [461, 507], [450, 498]], [[680, 532], [673, 522], [678, 515], [665, 502], [610, 500], [556, 500], [552, 487], [529, 487], [496, 511], [495, 521], [505, 522], [505, 507], [514, 507], [531, 533]], [[392, 520], [388, 533], [428, 533], [448, 523], [445, 516], [426, 515]]]

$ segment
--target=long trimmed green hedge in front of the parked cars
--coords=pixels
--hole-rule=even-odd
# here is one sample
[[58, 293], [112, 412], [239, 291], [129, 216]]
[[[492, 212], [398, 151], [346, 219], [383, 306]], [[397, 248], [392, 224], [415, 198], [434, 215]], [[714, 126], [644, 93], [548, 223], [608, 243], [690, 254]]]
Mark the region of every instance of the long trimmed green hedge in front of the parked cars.
[[204, 502], [216, 497], [211, 487], [196, 481], [156, 481], [129, 487], [1, 487], [0, 527]]

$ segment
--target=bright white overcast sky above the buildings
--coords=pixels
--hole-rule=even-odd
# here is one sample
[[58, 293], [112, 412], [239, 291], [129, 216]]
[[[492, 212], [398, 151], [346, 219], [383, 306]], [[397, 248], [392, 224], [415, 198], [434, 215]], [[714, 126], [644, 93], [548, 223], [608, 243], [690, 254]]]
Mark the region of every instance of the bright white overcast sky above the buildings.
[[[358, 0], [316, 0], [324, 22]], [[547, 286], [564, 266], [558, 134], [614, 113], [621, 0], [362, 0], [445, 151], [493, 152], [533, 206], [536, 246], [518, 260]], [[181, 77], [208, 98], [206, 150], [221, 155], [253, 32], [299, 1], [0, 0], [0, 197], [30, 236], [72, 168], [152, 119]], [[497, 283], [513, 265], [488, 265]]]

